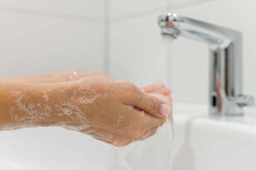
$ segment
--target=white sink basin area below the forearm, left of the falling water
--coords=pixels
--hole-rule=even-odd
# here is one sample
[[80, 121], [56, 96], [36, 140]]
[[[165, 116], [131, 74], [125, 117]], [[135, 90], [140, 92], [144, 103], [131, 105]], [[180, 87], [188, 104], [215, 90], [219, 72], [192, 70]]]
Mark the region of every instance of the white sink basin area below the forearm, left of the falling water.
[[104, 170], [111, 145], [63, 128], [0, 132], [1, 170]]

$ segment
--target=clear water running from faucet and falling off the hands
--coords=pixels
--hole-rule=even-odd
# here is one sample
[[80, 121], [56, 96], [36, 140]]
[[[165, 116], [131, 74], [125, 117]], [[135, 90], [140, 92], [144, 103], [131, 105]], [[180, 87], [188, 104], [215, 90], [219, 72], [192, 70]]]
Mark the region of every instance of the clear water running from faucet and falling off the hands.
[[[173, 38], [163, 35], [157, 65], [155, 88], [166, 85], [167, 65]], [[168, 61], [168, 62], [167, 62]], [[152, 94], [161, 97], [158, 94]], [[164, 101], [164, 100], [163, 100]], [[155, 134], [143, 141], [133, 142], [125, 147], [113, 146], [110, 151], [107, 170], [170, 170], [173, 142], [172, 117], [168, 117], [164, 125], [157, 128]]]

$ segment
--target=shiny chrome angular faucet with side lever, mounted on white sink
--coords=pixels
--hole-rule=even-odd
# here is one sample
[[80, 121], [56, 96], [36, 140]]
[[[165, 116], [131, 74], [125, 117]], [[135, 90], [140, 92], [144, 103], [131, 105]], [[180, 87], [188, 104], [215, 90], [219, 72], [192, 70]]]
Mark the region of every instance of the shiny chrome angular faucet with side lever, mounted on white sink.
[[208, 44], [210, 49], [210, 114], [243, 114], [243, 106], [252, 105], [252, 96], [242, 89], [242, 34], [175, 13], [158, 18], [161, 34], [182, 35]]

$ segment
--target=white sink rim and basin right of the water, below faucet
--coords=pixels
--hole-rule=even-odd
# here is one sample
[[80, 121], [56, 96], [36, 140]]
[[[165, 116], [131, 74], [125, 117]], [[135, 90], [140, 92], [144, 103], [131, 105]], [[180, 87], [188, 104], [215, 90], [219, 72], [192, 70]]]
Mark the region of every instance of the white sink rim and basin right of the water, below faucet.
[[244, 108], [244, 116], [209, 116], [206, 106], [175, 106], [172, 170], [256, 169], [254, 108]]

